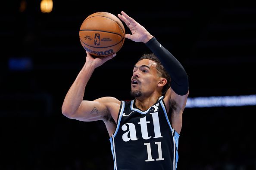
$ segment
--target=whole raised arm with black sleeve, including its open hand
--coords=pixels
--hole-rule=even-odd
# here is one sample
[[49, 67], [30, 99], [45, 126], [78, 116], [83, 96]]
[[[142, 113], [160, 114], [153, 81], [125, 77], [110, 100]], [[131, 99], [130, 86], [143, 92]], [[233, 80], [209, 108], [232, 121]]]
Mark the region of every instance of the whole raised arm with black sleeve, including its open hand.
[[[122, 15], [121, 15], [122, 14]], [[180, 133], [182, 126], [182, 113], [186, 106], [188, 96], [188, 77], [181, 63], [153, 37], [142, 25], [127, 15], [125, 12], [118, 17], [125, 22], [131, 30], [131, 34], [125, 34], [125, 38], [135, 42], [143, 42], [159, 58], [165, 70], [171, 76], [171, 88], [165, 94], [166, 109], [172, 107], [172, 127]], [[170, 109], [171, 110], [171, 109]]]

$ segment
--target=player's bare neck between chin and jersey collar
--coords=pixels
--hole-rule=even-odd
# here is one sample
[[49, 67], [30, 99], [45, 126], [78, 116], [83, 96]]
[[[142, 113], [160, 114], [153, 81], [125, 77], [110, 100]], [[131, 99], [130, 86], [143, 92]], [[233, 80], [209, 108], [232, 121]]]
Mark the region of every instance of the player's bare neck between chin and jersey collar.
[[137, 97], [135, 99], [135, 106], [140, 110], [149, 109], [161, 97], [161, 94], [156, 94], [150, 97]]

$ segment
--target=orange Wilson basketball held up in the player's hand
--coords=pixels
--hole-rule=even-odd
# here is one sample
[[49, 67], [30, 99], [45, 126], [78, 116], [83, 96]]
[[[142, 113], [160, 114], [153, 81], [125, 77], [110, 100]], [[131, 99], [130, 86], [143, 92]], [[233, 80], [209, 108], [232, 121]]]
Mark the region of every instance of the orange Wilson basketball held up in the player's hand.
[[125, 41], [122, 21], [109, 12], [89, 15], [81, 24], [80, 42], [84, 49], [96, 57], [118, 52]]

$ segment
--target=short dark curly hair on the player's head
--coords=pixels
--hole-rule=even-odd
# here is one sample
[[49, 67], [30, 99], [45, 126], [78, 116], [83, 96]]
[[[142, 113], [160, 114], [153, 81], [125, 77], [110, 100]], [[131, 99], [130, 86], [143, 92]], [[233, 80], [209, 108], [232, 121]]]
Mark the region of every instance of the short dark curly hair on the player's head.
[[140, 57], [139, 61], [143, 60], [143, 59], [148, 59], [148, 60], [152, 60], [152, 61], [156, 62], [156, 70], [158, 70], [161, 73], [161, 75], [160, 75], [158, 72], [158, 76], [163, 77], [167, 80], [166, 85], [164, 85], [162, 88], [162, 95], [165, 95], [166, 91], [170, 88], [171, 77], [170, 77], [169, 73], [167, 73], [167, 71], [163, 67], [162, 63], [159, 61], [159, 59], [153, 53], [142, 55]]

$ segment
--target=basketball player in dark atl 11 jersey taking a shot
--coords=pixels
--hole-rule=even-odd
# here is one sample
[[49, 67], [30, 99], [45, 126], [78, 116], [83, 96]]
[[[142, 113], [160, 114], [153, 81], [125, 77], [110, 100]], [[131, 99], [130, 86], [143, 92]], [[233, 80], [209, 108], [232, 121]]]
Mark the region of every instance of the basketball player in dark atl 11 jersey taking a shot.
[[189, 91], [187, 73], [143, 26], [121, 13], [118, 17], [132, 33], [125, 38], [143, 42], [153, 52], [134, 65], [131, 95], [135, 99], [83, 100], [94, 69], [116, 55], [93, 58], [87, 53], [84, 67], [66, 94], [62, 113], [80, 121], [105, 123], [115, 170], [176, 170], [182, 113]]

